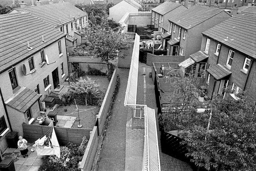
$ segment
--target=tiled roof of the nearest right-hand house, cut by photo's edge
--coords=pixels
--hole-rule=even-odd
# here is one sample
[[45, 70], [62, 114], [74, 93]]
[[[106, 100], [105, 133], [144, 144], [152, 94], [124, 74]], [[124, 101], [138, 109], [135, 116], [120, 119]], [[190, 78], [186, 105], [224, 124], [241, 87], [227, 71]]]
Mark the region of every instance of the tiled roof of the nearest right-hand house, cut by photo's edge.
[[[239, 13], [203, 32], [204, 35], [256, 58], [256, 13]], [[227, 40], [228, 37], [228, 40]]]

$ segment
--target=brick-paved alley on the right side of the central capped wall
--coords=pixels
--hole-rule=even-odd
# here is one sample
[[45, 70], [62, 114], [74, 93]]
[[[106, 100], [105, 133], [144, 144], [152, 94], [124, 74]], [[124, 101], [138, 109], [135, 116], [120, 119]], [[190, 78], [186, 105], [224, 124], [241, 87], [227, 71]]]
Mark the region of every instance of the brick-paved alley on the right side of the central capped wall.
[[[146, 64], [139, 63], [137, 104], [145, 104], [145, 101], [146, 101], [146, 105], [152, 109], [155, 109], [155, 113], [157, 114], [155, 86], [153, 84], [152, 78], [149, 78], [148, 76], [149, 72], [151, 72], [151, 66], [147, 66]], [[157, 124], [157, 136], [158, 136], [161, 170], [162, 171], [192, 171], [192, 168], [186, 162], [180, 161], [162, 152], [161, 141], [160, 141], [161, 132], [159, 131], [157, 117], [156, 117], [156, 124]]]

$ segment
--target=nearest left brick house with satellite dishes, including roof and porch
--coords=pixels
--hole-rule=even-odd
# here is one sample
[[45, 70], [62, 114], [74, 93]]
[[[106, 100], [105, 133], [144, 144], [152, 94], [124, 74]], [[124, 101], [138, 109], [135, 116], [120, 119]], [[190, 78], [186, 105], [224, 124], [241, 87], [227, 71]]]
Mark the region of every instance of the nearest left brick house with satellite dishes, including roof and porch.
[[66, 35], [28, 13], [0, 15], [0, 27], [1, 121], [22, 135], [21, 124], [40, 116], [40, 102], [69, 75]]

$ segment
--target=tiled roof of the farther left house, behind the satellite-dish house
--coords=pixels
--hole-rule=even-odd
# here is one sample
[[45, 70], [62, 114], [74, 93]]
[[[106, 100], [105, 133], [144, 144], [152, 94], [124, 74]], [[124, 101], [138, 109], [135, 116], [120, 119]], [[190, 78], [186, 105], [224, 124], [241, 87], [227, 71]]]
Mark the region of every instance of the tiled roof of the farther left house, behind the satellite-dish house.
[[18, 12], [28, 12], [53, 27], [60, 27], [66, 23], [88, 15], [79, 8], [69, 3], [47, 4], [30, 6], [25, 8], [15, 8]]

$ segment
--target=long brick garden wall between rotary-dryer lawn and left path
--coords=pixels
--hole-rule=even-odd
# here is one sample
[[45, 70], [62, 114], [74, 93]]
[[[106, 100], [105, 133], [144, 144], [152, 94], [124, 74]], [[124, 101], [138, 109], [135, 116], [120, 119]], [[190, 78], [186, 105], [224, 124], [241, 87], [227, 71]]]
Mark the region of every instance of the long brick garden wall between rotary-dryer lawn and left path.
[[116, 73], [116, 67], [115, 67], [112, 78], [108, 84], [107, 92], [105, 94], [102, 105], [100, 107], [100, 112], [99, 114], [96, 115], [96, 118], [98, 119], [98, 124], [99, 124], [99, 127], [98, 127], [99, 135], [101, 135], [101, 132], [103, 130], [104, 123], [108, 114], [109, 107], [111, 106], [113, 92], [115, 91], [115, 87], [116, 87], [116, 76], [117, 76], [117, 73]]

